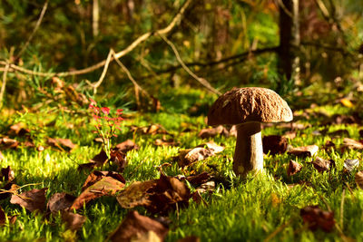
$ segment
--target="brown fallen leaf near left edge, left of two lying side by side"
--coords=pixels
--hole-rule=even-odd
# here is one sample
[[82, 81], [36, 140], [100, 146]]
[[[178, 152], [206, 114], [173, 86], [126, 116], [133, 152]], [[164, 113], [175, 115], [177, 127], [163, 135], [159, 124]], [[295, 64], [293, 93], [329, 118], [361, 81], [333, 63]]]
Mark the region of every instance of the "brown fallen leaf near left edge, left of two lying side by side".
[[35, 210], [44, 211], [45, 192], [47, 189], [31, 189], [18, 195], [13, 194], [10, 203], [18, 204], [30, 212], [34, 212]]

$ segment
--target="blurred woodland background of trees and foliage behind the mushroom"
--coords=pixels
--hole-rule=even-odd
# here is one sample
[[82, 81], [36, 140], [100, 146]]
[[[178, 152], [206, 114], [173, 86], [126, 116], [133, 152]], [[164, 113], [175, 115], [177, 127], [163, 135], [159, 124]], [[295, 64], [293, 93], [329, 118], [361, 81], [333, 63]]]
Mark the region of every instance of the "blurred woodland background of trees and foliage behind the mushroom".
[[[103, 68], [56, 80], [10, 65], [4, 74], [6, 63], [42, 73], [92, 66], [105, 60], [111, 48], [118, 53], [142, 34], [166, 27], [185, 2], [2, 0], [0, 73], [2, 85], [6, 84], [2, 102], [15, 109], [45, 102], [56, 107], [69, 102], [72, 94], [57, 92], [68, 86], [76, 95], [71, 101], [82, 106], [77, 95], [94, 96], [90, 83], [100, 79]], [[354, 103], [360, 102], [363, 92], [362, 13], [363, 2], [353, 0], [198, 0], [191, 1], [180, 23], [165, 37], [189, 70], [218, 92], [262, 86], [279, 92], [293, 107], [342, 98]], [[201, 89], [210, 93], [158, 34], [120, 61], [129, 76], [111, 62], [97, 89], [108, 102], [159, 111], [168, 102], [177, 102], [172, 100], [177, 94], [187, 97]], [[135, 90], [130, 75], [144, 92]], [[200, 94], [191, 102], [204, 98], [212, 102], [215, 97]]]

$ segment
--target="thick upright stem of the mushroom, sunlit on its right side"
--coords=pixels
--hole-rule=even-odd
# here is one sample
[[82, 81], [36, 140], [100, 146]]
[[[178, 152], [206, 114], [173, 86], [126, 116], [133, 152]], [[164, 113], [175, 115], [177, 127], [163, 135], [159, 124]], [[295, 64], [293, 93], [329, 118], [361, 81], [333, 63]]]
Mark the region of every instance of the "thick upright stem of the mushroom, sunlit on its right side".
[[237, 142], [233, 156], [233, 171], [246, 176], [251, 170], [263, 169], [263, 150], [260, 122], [248, 122], [237, 127]]

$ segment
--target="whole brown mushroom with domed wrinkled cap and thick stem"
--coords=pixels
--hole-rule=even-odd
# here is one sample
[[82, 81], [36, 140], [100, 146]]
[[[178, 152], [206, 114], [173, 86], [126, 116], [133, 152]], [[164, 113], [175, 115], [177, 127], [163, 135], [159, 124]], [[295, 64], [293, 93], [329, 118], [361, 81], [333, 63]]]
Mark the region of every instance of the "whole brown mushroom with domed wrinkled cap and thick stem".
[[244, 177], [249, 171], [263, 169], [260, 123], [292, 121], [292, 118], [288, 103], [278, 93], [260, 87], [233, 88], [213, 103], [208, 125], [236, 124], [233, 171]]

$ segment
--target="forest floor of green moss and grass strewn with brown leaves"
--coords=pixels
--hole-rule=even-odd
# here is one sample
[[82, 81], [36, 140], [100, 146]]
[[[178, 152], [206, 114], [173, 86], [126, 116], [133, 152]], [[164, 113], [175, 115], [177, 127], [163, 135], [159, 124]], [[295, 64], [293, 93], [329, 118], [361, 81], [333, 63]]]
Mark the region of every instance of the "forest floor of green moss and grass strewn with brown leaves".
[[[161, 98], [159, 112], [124, 111], [111, 160], [87, 108], [4, 110], [0, 240], [131, 237], [121, 223], [143, 240], [154, 232], [165, 241], [363, 239], [357, 103], [291, 103], [294, 121], [263, 125], [264, 172], [240, 179], [233, 132], [203, 130], [212, 129], [205, 118], [215, 98], [184, 90]], [[271, 135], [285, 145], [270, 144]], [[141, 217], [132, 230], [132, 210], [156, 224]]]

